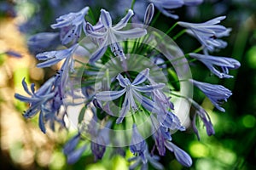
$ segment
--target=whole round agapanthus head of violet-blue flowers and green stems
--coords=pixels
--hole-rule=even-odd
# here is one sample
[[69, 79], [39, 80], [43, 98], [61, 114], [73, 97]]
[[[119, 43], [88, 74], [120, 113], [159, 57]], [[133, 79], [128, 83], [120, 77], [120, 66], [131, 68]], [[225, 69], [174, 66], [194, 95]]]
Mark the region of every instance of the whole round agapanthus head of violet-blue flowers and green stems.
[[[182, 83], [172, 82], [181, 77], [182, 72], [177, 71], [177, 67], [184, 68], [177, 60], [183, 62], [187, 58], [200, 61], [219, 78], [233, 77], [229, 70], [240, 66], [236, 59], [208, 54], [227, 46], [220, 38], [229, 36], [231, 30], [217, 25], [225, 17], [201, 24], [177, 21], [175, 26], [185, 27], [189, 35], [201, 42], [203, 54], [194, 52], [184, 55], [171, 42], [165, 42], [166, 35], [150, 31], [150, 23], [154, 20], [155, 8], [173, 20], [178, 17], [171, 10], [183, 5], [198, 5], [202, 0], [148, 2], [148, 8], [143, 11], [143, 25], [130, 22], [135, 14], [129, 7], [116, 25], [113, 25], [111, 11], [102, 8], [99, 19], [91, 21], [90, 12], [93, 9], [84, 7], [57, 18], [51, 27], [59, 29], [59, 32], [41, 33], [30, 39], [29, 45], [41, 47], [41, 42], [44, 42], [46, 48], [59, 36], [61, 45], [58, 49], [39, 53], [36, 58], [43, 61], [37, 65], [40, 68], [55, 64], [61, 66], [55, 76], [38, 90], [34, 84], [29, 90], [24, 79], [22, 85], [30, 97], [15, 94], [15, 98], [29, 104], [25, 118], [39, 113], [39, 127], [44, 133], [47, 133], [48, 122], [54, 131], [58, 123], [68, 128], [64, 117], [72, 117], [73, 112], [68, 114], [67, 108], [81, 106], [75, 121], [77, 134], [67, 141], [63, 149], [67, 163], [78, 161], [85, 150], [90, 150], [96, 161], [104, 159], [107, 151], [125, 157], [125, 150], [130, 150], [134, 155], [128, 160], [131, 169], [147, 169], [148, 164], [163, 169], [160, 156], [171, 151], [179, 163], [190, 167], [192, 159], [189, 154], [179, 148], [182, 145], [173, 142], [175, 132], [183, 133], [189, 128], [183, 120], [192, 115], [190, 127], [198, 139], [197, 116], [207, 128], [208, 135], [215, 133], [207, 111], [191, 96], [180, 93]], [[156, 49], [156, 46], [160, 48]], [[161, 48], [164, 49], [162, 52]], [[170, 49], [173, 54], [166, 53]], [[199, 82], [192, 77], [183, 82], [199, 88], [218, 111], [225, 111], [222, 104], [232, 94], [229, 89]], [[186, 99], [194, 109], [182, 117], [176, 107], [177, 101], [172, 98]], [[70, 118], [70, 121], [73, 119]], [[149, 141], [153, 141], [153, 147]]]

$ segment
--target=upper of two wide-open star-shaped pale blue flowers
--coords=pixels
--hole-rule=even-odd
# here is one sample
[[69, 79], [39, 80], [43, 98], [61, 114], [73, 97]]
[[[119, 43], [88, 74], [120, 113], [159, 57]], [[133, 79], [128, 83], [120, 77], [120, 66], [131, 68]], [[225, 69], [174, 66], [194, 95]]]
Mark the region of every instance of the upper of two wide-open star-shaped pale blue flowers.
[[116, 57], [119, 57], [120, 60], [126, 59], [123, 48], [121, 47], [119, 41], [126, 38], [143, 37], [147, 33], [147, 31], [143, 28], [133, 28], [126, 31], [120, 31], [127, 25], [132, 15], [133, 11], [129, 9], [125, 17], [120, 20], [117, 25], [113, 26], [110, 14], [105, 9], [102, 9], [100, 20], [104, 26], [103, 30], [94, 31], [93, 28], [89, 28], [87, 26], [86, 32], [88, 37], [103, 39], [100, 47], [96, 50], [96, 52], [91, 54], [90, 63], [94, 63], [96, 60], [102, 57], [102, 55], [107, 50], [108, 44], [110, 45], [111, 51]]

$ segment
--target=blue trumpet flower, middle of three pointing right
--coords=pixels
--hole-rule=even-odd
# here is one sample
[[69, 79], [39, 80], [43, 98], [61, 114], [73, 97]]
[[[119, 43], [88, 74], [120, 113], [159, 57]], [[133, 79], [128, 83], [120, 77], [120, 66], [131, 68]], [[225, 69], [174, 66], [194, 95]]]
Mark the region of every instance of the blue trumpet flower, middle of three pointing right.
[[[200, 60], [210, 71], [212, 71], [213, 74], [219, 78], [231, 78], [232, 76], [229, 75], [229, 69], [237, 69], [240, 67], [239, 61], [232, 58], [203, 54], [189, 54], [189, 56]], [[220, 67], [220, 69], [217, 67]]]

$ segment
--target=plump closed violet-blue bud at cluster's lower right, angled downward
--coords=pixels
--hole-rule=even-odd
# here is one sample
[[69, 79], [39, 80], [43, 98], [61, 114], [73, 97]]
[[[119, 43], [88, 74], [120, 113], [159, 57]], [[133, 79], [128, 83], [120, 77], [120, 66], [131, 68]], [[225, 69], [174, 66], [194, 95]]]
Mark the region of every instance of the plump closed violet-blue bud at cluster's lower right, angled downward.
[[180, 162], [185, 167], [191, 167], [192, 159], [184, 150], [177, 147], [177, 145], [173, 144], [170, 141], [165, 142], [166, 148], [174, 153], [177, 161]]

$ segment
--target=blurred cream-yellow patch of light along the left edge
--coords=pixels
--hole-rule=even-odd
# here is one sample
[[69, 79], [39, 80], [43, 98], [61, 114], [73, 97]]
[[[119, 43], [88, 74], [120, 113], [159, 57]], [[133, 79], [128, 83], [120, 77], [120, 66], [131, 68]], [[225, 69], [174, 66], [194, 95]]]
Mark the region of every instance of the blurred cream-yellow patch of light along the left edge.
[[[45, 135], [39, 128], [35, 128], [37, 125], [34, 120], [37, 118], [26, 121], [21, 113], [27, 105], [14, 98], [15, 93], [27, 95], [21, 86], [23, 77], [26, 77], [28, 84], [44, 77], [44, 71], [36, 68], [36, 60], [28, 53], [26, 38], [17, 26], [16, 19], [0, 20], [0, 127], [1, 152], [5, 156], [1, 158], [3, 169], [9, 160], [19, 169], [36, 169], [38, 165], [49, 167], [58, 160], [60, 162], [55, 162], [55, 169], [60, 169], [66, 161], [65, 157], [62, 153], [53, 155], [53, 150], [55, 141], [60, 143], [65, 140], [63, 134], [60, 137], [61, 134], [49, 131]], [[9, 56], [4, 54], [6, 51], [14, 51], [22, 57]]]

